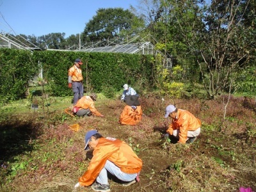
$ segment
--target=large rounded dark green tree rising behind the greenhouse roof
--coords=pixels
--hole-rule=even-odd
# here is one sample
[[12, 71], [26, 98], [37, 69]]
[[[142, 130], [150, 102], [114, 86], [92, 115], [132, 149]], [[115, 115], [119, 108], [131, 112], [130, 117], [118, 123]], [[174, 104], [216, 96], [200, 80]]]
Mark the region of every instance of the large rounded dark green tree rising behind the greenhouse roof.
[[83, 41], [107, 40], [119, 35], [120, 31], [131, 29], [136, 17], [129, 10], [122, 8], [100, 8], [86, 24]]

